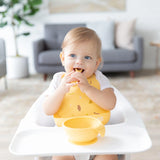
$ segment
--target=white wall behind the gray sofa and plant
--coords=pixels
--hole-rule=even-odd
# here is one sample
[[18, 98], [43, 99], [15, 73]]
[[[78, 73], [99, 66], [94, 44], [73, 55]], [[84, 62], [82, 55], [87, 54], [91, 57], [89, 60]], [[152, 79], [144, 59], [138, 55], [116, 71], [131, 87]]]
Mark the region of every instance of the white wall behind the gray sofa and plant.
[[[44, 1], [41, 12], [30, 19], [35, 26], [22, 28], [30, 30], [29, 37], [19, 38], [19, 51], [21, 55], [29, 57], [30, 72], [35, 73], [33, 65], [32, 43], [43, 37], [43, 25], [45, 23], [79, 23], [88, 21], [105, 20], [108, 17], [115, 20], [136, 18], [136, 34], [144, 37], [144, 69], [155, 68], [156, 49], [149, 44], [151, 41], [160, 40], [160, 1], [159, 0], [126, 0], [126, 11], [123, 12], [101, 12], [101, 13], [76, 13], [76, 14], [49, 14], [47, 0]], [[9, 27], [0, 29], [0, 37], [6, 40], [7, 55], [14, 54], [12, 31]], [[159, 59], [160, 61], [160, 59]]]

